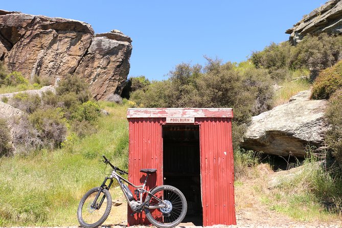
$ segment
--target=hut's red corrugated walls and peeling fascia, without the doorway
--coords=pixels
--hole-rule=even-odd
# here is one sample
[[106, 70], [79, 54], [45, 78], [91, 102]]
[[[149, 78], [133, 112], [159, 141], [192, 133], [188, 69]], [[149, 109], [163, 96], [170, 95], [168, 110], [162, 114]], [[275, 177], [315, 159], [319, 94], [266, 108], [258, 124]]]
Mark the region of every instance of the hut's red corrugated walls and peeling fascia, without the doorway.
[[[156, 168], [148, 189], [163, 185], [162, 125], [166, 117], [195, 117], [194, 124], [200, 125], [203, 226], [236, 224], [231, 108], [128, 109], [129, 181], [139, 184], [143, 181], [140, 169]], [[134, 217], [130, 213], [128, 208], [128, 225], [149, 224], [144, 213]]]

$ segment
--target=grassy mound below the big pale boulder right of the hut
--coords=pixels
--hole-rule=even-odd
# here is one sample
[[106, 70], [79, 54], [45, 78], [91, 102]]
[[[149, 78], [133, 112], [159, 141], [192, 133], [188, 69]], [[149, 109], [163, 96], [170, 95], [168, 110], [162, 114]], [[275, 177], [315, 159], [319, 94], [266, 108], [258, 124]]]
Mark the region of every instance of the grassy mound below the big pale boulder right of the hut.
[[[256, 191], [259, 200], [270, 210], [283, 213], [295, 220], [301, 221], [330, 221], [338, 218], [336, 211], [329, 211], [325, 207], [327, 197], [317, 194], [317, 190], [324, 189], [325, 185], [332, 184], [322, 167], [315, 161], [307, 159], [302, 166], [303, 172], [294, 178], [284, 179], [275, 189]], [[324, 178], [324, 183], [317, 180]], [[328, 192], [325, 190], [325, 192]], [[336, 192], [337, 193], [337, 192]]]

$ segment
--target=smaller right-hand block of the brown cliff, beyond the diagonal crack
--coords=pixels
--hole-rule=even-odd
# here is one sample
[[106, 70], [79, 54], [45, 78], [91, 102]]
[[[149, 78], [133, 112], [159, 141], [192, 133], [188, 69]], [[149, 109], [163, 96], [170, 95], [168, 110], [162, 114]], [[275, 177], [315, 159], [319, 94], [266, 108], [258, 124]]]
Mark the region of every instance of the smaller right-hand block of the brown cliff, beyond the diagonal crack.
[[97, 100], [120, 94], [129, 73], [130, 37], [118, 30], [96, 34], [76, 74], [90, 83]]

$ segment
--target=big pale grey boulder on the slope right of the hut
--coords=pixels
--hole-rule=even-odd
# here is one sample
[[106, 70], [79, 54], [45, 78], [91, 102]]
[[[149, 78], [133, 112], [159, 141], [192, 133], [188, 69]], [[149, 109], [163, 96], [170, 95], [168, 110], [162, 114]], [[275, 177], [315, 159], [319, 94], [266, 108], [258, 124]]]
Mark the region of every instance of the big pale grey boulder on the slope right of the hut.
[[293, 96], [286, 104], [252, 118], [241, 146], [266, 154], [298, 157], [306, 155], [307, 145], [319, 147], [327, 124], [326, 100], [309, 100], [310, 90]]

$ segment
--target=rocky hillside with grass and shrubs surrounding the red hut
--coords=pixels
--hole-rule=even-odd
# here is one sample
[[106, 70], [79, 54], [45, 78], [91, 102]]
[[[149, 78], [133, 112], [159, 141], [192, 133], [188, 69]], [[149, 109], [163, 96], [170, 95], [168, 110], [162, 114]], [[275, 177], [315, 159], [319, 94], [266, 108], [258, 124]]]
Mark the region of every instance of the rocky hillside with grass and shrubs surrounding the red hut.
[[[341, 227], [340, 3], [245, 61], [181, 62], [159, 81], [127, 79], [131, 39], [120, 31], [0, 10], [0, 226], [78, 226], [80, 199], [109, 172], [101, 155], [128, 169], [127, 108], [229, 107], [229, 227]], [[123, 204], [104, 224], [125, 226], [117, 184], [110, 193]]]

